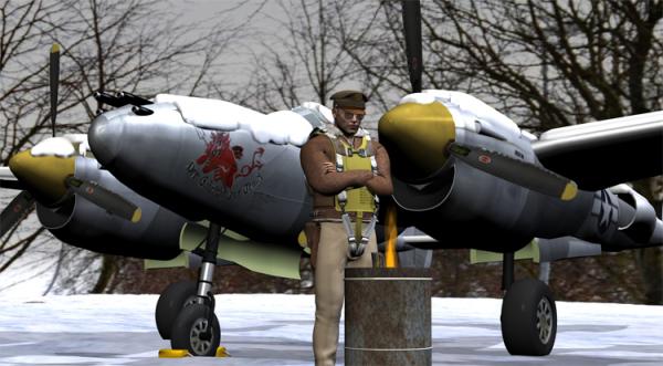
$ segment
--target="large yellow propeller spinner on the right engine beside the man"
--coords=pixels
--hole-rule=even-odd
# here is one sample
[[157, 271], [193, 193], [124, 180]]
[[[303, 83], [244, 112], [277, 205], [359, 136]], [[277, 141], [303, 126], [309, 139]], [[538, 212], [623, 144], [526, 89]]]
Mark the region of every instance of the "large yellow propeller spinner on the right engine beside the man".
[[455, 125], [439, 102], [403, 103], [380, 118], [378, 134], [389, 151], [391, 172], [403, 181], [418, 182], [446, 161], [446, 145], [455, 139]]

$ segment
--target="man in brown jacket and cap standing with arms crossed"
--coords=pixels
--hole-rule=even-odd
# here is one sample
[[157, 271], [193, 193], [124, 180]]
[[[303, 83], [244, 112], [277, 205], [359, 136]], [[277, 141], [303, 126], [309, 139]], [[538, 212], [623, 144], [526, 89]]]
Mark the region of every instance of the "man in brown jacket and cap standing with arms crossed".
[[366, 95], [341, 91], [332, 101], [334, 126], [315, 129], [301, 151], [313, 191], [313, 221], [319, 228], [319, 240], [312, 248], [316, 366], [336, 363], [345, 268], [372, 265], [371, 253], [378, 251], [378, 195], [392, 192], [387, 150], [360, 128]]

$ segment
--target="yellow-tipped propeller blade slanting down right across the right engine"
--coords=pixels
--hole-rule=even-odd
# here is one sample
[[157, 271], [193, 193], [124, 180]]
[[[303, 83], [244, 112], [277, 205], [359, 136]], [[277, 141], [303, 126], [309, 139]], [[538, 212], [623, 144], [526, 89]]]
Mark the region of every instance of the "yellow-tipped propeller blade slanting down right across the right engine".
[[544, 195], [568, 201], [578, 194], [578, 186], [575, 181], [533, 164], [455, 143], [450, 144], [449, 151], [480, 170]]

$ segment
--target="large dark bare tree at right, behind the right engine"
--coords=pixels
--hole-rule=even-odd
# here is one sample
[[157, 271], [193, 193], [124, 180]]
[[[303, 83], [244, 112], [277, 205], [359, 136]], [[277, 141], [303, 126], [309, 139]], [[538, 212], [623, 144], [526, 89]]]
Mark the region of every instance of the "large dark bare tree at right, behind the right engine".
[[[394, 38], [356, 42], [402, 55], [400, 4], [382, 7], [377, 33]], [[472, 93], [535, 133], [663, 109], [663, 1], [439, 0], [423, 2], [422, 18], [424, 87]], [[386, 85], [406, 85], [402, 57], [391, 61]], [[661, 179], [634, 182], [659, 215]], [[623, 255], [641, 272], [641, 301], [663, 303], [661, 248]], [[597, 259], [603, 271], [624, 275], [607, 261]]]

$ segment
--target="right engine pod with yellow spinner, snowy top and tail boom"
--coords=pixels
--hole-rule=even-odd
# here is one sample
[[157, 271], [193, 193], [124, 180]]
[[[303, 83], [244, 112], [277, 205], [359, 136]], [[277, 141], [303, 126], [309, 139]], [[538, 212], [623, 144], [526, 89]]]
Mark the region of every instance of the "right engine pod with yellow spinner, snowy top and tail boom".
[[[537, 159], [535, 136], [467, 94], [408, 95], [382, 116], [379, 134], [389, 151], [398, 151], [390, 155], [393, 199], [414, 226], [440, 241], [435, 248], [509, 252], [534, 237], [572, 236], [618, 250], [656, 245], [663, 238], [651, 205], [635, 199], [641, 197], [632, 189], [620, 190], [631, 198], [625, 200], [614, 189], [580, 189], [565, 200], [523, 186], [520, 177], [504, 179], [451, 155], [449, 146], [459, 144], [485, 151], [478, 154], [482, 164], [495, 157], [507, 161], [512, 176], [539, 169], [544, 178], [559, 178]], [[629, 224], [633, 220], [641, 224]]]

